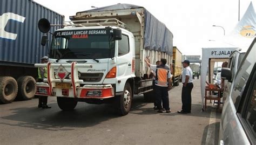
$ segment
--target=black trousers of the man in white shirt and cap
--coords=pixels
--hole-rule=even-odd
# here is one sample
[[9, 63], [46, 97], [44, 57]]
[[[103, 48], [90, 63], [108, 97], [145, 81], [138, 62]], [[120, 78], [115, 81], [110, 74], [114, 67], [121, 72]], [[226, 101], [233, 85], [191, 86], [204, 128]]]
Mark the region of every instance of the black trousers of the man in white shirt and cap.
[[194, 87], [193, 83], [187, 83], [186, 87], [182, 87], [182, 94], [181, 94], [181, 100], [182, 100], [182, 110], [184, 112], [191, 112], [191, 91]]

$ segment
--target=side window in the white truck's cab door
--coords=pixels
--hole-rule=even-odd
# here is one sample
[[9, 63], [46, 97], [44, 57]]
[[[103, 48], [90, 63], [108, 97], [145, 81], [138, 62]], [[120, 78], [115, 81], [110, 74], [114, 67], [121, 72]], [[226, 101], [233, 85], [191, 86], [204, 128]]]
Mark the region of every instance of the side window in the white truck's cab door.
[[118, 40], [118, 56], [129, 53], [129, 37], [122, 34], [122, 40]]

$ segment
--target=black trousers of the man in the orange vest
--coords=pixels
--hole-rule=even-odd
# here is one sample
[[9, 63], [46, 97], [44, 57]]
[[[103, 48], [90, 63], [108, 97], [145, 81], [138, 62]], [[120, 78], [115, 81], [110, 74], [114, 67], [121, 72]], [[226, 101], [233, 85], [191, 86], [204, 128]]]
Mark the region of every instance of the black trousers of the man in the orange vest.
[[161, 102], [163, 101], [163, 107], [166, 110], [170, 110], [168, 87], [160, 87], [156, 85], [154, 90], [156, 91], [157, 108], [163, 109], [161, 106]]

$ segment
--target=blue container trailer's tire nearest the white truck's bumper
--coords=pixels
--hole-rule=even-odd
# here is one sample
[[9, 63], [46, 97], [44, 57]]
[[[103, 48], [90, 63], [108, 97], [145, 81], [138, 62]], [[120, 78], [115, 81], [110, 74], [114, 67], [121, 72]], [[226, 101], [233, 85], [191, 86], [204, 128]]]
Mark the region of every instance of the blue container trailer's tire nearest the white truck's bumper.
[[23, 76], [17, 79], [18, 95], [17, 98], [21, 100], [30, 100], [36, 93], [36, 80], [31, 76]]

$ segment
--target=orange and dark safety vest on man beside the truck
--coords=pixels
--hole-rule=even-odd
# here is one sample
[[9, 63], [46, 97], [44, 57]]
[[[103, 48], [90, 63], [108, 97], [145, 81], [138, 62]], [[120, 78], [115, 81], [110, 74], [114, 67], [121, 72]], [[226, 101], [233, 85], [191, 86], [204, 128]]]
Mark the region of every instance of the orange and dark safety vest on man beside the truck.
[[170, 69], [167, 66], [159, 65], [156, 70], [156, 85], [167, 87], [168, 86], [168, 73]]

